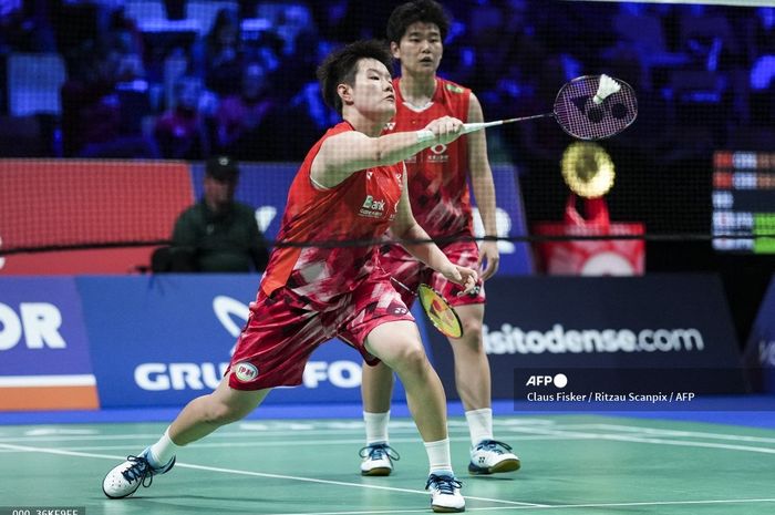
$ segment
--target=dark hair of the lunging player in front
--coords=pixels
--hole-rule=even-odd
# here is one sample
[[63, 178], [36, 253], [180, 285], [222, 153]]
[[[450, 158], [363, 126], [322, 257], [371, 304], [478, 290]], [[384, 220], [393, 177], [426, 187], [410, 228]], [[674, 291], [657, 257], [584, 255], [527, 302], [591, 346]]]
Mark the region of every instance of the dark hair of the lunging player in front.
[[375, 59], [393, 74], [393, 58], [388, 45], [376, 40], [355, 41], [331, 52], [318, 68], [318, 81], [323, 100], [329, 107], [342, 114], [342, 99], [339, 97], [339, 84], [355, 84], [358, 62], [361, 59]]

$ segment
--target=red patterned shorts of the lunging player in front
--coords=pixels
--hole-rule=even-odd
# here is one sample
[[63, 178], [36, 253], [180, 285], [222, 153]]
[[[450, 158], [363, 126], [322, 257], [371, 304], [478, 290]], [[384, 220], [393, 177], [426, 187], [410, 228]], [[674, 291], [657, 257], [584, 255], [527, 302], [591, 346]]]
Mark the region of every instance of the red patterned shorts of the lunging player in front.
[[353, 291], [334, 299], [321, 311], [287, 287], [269, 297], [259, 291], [231, 357], [229, 385], [235, 390], [262, 390], [301, 384], [310, 354], [334, 337], [358, 350], [369, 364], [375, 364], [379, 360], [364, 347], [372, 329], [385, 322], [414, 320], [384, 274], [372, 274]]

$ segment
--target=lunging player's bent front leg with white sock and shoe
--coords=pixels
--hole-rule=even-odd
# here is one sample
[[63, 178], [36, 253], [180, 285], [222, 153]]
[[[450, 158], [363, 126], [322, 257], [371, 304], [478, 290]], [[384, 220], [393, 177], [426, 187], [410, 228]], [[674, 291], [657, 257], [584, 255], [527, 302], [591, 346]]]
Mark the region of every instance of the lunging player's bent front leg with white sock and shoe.
[[411, 321], [378, 326], [366, 338], [366, 350], [393, 369], [406, 390], [409, 409], [427, 452], [425, 487], [432, 494], [433, 509], [462, 512], [465, 499], [452, 471], [444, 387], [425, 356], [417, 327]]

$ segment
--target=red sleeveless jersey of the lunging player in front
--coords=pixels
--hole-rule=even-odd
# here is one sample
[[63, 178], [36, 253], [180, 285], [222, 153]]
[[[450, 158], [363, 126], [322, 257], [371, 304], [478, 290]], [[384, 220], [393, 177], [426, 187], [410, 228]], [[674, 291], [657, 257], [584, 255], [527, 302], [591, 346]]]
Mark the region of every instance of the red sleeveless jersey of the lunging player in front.
[[[330, 128], [309, 151], [291, 184], [279, 241], [376, 240], [395, 214], [403, 189], [404, 166], [355, 172], [332, 188], [312, 184], [310, 171], [326, 138], [354, 131], [348, 122]], [[261, 280], [267, 296], [282, 286], [306, 298], [316, 310], [354, 290], [374, 269], [375, 247], [278, 247]]]

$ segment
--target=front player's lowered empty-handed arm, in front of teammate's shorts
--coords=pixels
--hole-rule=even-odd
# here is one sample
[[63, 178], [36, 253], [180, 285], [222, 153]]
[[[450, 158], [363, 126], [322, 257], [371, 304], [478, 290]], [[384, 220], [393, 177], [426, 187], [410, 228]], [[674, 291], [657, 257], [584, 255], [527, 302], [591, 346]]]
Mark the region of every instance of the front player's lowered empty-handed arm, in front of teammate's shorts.
[[[412, 215], [412, 207], [409, 202], [406, 187], [406, 174], [404, 174], [404, 188], [401, 193], [401, 202], [399, 203], [399, 213], [391, 225], [391, 230], [401, 239], [407, 241], [430, 240], [431, 237], [423, 229], [417, 220]], [[444, 253], [434, 243], [426, 244], [403, 244], [404, 248], [428, 267], [451, 281], [463, 286], [465, 289], [461, 295], [468, 293], [476, 288], [477, 274], [476, 270], [467, 267], [461, 267], [447, 259]]]

